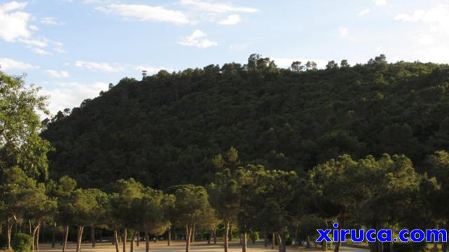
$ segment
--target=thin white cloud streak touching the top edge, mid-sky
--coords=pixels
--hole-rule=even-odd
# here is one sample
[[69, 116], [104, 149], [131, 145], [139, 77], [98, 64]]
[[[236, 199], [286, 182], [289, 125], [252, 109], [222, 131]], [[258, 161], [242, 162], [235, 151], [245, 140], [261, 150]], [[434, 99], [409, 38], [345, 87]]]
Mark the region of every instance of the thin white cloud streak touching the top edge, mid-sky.
[[180, 3], [210, 13], [256, 13], [259, 11], [257, 8], [236, 7], [227, 3], [215, 3], [213, 1], [181, 0]]

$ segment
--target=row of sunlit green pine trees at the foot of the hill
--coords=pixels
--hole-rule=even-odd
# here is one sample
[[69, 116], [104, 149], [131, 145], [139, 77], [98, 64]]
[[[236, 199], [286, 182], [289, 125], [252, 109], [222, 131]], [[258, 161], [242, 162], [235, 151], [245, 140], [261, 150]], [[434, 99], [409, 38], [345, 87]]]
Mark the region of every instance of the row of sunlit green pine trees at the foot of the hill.
[[[235, 149], [230, 153], [235, 154]], [[172, 229], [185, 235], [186, 252], [194, 241], [195, 230], [207, 232], [217, 242], [217, 229], [222, 232], [228, 251], [232, 227], [241, 238], [242, 252], [247, 249], [247, 236], [262, 237], [265, 246], [276, 242], [280, 252], [288, 244], [311, 247], [316, 229], [332, 228], [447, 228], [449, 192], [449, 153], [430, 155], [428, 162], [434, 176], [418, 174], [404, 155], [368, 156], [354, 160], [342, 155], [317, 165], [307, 174], [267, 170], [262, 165], [239, 165], [236, 155], [220, 158], [215, 174], [206, 186], [180, 185], [166, 192], [145, 187], [135, 179], [119, 180], [112, 192], [97, 188], [77, 188], [76, 181], [63, 176], [58, 182], [38, 183], [20, 167], [4, 168], [0, 179], [1, 225], [6, 229], [6, 248], [15, 235], [29, 232], [32, 249], [39, 250], [39, 232], [45, 225], [55, 232], [63, 228], [62, 251], [66, 251], [69, 229], [76, 228], [76, 251], [81, 251], [84, 228], [111, 230], [116, 252], [134, 251], [135, 241], [166, 235], [168, 246]], [[182, 231], [182, 230], [185, 230]], [[397, 235], [397, 234], [394, 234]], [[441, 237], [440, 237], [441, 239]], [[323, 251], [340, 243], [321, 244]], [[369, 244], [371, 251], [426, 251], [427, 244]], [[438, 242], [434, 242], [439, 251]], [[441, 243], [447, 251], [447, 242]]]

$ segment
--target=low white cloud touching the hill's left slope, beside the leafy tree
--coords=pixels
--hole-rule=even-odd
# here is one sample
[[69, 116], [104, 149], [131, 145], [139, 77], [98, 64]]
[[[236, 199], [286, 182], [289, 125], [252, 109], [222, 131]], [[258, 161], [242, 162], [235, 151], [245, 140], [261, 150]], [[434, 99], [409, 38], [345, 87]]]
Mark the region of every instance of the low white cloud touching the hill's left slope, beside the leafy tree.
[[97, 97], [100, 91], [107, 89], [108, 84], [102, 82], [53, 83], [53, 85], [45, 85], [40, 91], [40, 94], [49, 96], [48, 109], [52, 114], [55, 114], [65, 108], [79, 106], [84, 99]]

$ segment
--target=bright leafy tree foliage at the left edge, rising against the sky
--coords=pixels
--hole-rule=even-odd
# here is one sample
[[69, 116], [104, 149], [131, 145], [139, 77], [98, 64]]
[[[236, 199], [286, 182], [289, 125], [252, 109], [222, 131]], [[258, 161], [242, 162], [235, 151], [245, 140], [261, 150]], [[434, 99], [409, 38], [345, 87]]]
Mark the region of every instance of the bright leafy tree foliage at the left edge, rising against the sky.
[[47, 113], [46, 97], [39, 88], [27, 87], [24, 77], [0, 71], [0, 175], [1, 169], [18, 166], [27, 175], [44, 180], [48, 176], [48, 141], [39, 134], [39, 113]]

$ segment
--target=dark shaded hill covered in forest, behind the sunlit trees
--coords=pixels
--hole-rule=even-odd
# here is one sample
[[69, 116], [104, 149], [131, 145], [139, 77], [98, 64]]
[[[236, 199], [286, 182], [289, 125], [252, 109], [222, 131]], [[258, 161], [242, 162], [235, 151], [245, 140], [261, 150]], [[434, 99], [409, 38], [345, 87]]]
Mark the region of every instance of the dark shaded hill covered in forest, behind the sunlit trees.
[[429, 153], [448, 149], [448, 65], [376, 57], [308, 66], [279, 69], [250, 57], [244, 66], [124, 78], [48, 124], [51, 174], [81, 186], [134, 177], [166, 188], [206, 183], [220, 169], [215, 155], [229, 159], [231, 146], [241, 163], [288, 170], [342, 153], [404, 153], [420, 167]]

